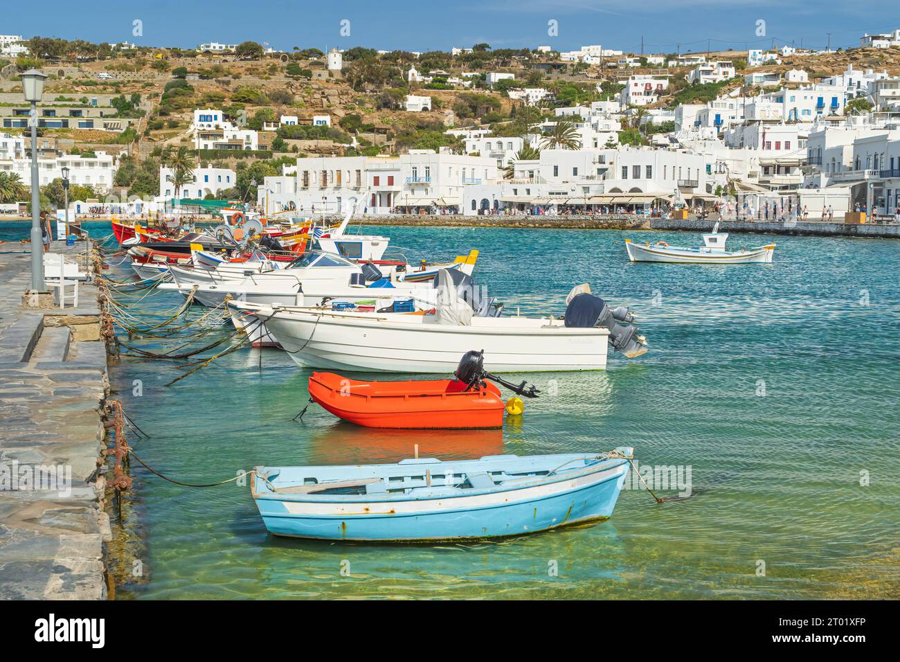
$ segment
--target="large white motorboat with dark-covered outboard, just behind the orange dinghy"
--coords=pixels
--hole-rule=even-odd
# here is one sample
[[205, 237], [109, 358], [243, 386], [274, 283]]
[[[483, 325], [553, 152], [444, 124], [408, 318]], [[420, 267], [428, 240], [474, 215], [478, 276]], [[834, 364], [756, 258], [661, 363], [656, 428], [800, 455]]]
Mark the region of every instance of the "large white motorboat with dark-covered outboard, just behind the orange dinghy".
[[614, 319], [599, 297], [575, 297], [564, 319], [478, 316], [455, 288], [437, 289], [441, 297], [434, 311], [413, 313], [243, 302], [228, 306], [265, 322], [272, 340], [302, 367], [447, 373], [461, 354], [477, 347], [490, 357], [486, 368], [491, 372], [602, 370], [610, 342], [632, 358], [646, 351], [635, 327], [617, 323], [624, 322], [622, 317], [630, 321], [630, 313], [617, 309]]

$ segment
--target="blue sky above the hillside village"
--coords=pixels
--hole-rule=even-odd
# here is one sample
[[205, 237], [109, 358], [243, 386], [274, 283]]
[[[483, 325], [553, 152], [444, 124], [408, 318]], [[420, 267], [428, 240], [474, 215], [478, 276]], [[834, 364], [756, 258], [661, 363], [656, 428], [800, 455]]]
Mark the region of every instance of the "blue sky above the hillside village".
[[[22, 5], [20, 5], [21, 7]], [[449, 50], [487, 42], [494, 48], [546, 44], [573, 50], [582, 44], [644, 52], [682, 52], [795, 41], [824, 48], [858, 46], [863, 32], [900, 27], [896, 0], [149, 0], [143, 3], [44, 0], [39, 12], [6, 13], [0, 32], [89, 41], [136, 41], [193, 48], [204, 41], [267, 41], [280, 50]], [[143, 36], [132, 36], [142, 21]], [[349, 21], [350, 35], [341, 36]], [[558, 36], [548, 36], [548, 22]], [[765, 21], [765, 36], [756, 34]]]

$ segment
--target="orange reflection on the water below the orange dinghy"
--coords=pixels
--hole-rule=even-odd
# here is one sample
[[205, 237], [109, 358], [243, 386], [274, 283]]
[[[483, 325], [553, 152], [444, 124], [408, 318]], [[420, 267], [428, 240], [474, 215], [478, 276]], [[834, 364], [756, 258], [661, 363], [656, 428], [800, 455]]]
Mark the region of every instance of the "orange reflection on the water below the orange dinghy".
[[368, 464], [411, 458], [472, 459], [502, 455], [502, 430], [384, 430], [336, 422], [312, 433], [311, 464]]

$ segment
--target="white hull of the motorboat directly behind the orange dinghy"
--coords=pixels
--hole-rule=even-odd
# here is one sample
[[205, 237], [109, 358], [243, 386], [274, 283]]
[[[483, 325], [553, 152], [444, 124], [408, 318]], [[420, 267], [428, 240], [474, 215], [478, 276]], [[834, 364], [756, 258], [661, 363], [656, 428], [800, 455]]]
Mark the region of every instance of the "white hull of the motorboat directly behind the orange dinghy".
[[605, 329], [514, 329], [503, 323], [511, 318], [473, 318], [473, 326], [453, 326], [423, 322], [422, 316], [401, 322], [397, 313], [370, 317], [376, 319], [275, 313], [264, 322], [302, 367], [448, 374], [475, 348], [484, 349], [491, 372], [602, 370], [607, 364]]

